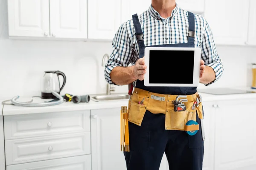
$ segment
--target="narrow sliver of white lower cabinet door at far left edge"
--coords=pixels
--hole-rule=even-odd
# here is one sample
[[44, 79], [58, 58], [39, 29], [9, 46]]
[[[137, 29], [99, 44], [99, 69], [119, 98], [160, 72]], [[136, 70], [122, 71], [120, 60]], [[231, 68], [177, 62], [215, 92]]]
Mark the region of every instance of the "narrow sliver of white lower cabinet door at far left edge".
[[0, 170], [5, 170], [3, 116], [1, 111], [0, 111]]

